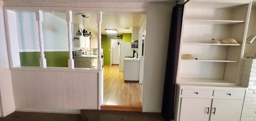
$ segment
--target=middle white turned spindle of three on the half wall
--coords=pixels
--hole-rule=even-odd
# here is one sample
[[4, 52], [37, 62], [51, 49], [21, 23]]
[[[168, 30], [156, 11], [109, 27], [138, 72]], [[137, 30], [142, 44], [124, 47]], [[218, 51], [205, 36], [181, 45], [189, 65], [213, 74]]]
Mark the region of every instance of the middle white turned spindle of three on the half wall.
[[74, 60], [72, 55], [72, 34], [71, 34], [71, 22], [72, 12], [66, 11], [66, 20], [68, 22], [68, 68], [74, 68]]

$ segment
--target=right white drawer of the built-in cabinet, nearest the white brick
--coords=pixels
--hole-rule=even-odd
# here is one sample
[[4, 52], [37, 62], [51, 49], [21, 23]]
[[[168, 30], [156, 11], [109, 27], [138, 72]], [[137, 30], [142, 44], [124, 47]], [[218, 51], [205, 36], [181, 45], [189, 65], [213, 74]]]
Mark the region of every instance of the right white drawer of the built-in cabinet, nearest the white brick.
[[244, 97], [245, 91], [224, 91], [214, 90], [213, 96], [216, 97]]

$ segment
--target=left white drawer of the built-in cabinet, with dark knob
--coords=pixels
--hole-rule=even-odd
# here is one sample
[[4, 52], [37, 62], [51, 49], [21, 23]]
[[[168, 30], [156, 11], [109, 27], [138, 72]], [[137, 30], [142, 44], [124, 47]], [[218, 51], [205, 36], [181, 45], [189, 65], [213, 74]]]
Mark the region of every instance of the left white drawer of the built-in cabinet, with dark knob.
[[212, 96], [212, 90], [182, 89], [182, 95]]

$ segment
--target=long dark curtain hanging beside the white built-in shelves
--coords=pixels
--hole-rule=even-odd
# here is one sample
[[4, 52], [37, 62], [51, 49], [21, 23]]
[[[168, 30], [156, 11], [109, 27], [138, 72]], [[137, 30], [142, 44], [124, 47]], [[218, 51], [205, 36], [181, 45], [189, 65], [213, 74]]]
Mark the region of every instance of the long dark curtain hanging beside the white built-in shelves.
[[162, 115], [166, 118], [166, 121], [174, 119], [174, 95], [178, 69], [183, 10], [183, 4], [177, 4], [172, 9], [172, 22], [168, 44], [168, 55], [164, 80], [164, 95], [162, 103]]

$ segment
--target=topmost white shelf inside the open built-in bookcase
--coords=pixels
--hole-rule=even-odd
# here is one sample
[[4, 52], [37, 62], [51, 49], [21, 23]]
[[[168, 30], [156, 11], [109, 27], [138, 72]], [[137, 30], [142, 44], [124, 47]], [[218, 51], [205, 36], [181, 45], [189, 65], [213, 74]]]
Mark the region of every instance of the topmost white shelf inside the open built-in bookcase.
[[199, 25], [234, 25], [244, 23], [244, 21], [238, 20], [194, 20], [186, 19], [185, 24], [199, 24]]

